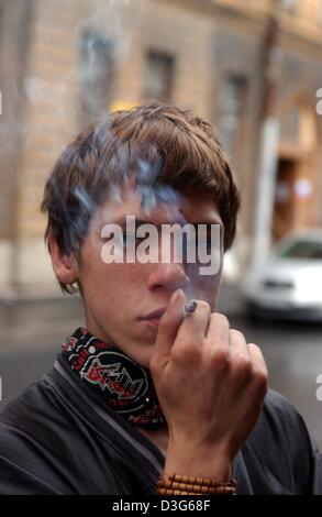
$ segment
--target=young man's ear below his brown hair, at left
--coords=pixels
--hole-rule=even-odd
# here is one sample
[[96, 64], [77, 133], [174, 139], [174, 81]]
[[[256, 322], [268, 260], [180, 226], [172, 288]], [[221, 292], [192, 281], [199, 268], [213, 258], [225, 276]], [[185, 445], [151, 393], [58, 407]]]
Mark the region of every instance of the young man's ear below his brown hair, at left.
[[49, 232], [48, 244], [54, 273], [62, 284], [74, 284], [77, 280], [77, 261], [73, 254], [66, 255], [59, 249], [53, 232]]

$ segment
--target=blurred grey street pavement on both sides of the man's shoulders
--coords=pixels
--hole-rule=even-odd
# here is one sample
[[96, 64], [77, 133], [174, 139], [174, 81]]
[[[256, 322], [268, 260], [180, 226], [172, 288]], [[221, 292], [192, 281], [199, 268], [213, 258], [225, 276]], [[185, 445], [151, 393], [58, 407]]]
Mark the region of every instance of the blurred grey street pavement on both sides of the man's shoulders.
[[[317, 377], [322, 374], [322, 323], [267, 321], [254, 326], [237, 310], [236, 296], [227, 289], [220, 310], [229, 315], [231, 327], [241, 330], [247, 342], [262, 348], [269, 386], [285, 395], [301, 413], [322, 450], [322, 402], [317, 398]], [[81, 311], [77, 299], [0, 305], [2, 397], [16, 393], [46, 373], [64, 337], [79, 323]]]

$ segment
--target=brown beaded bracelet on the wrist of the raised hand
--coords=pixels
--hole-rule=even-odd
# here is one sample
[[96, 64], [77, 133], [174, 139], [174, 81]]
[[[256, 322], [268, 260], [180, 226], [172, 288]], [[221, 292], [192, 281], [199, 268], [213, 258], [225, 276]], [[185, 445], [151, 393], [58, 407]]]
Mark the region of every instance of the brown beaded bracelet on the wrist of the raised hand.
[[158, 495], [233, 495], [236, 481], [218, 482], [212, 477], [163, 474], [157, 483]]

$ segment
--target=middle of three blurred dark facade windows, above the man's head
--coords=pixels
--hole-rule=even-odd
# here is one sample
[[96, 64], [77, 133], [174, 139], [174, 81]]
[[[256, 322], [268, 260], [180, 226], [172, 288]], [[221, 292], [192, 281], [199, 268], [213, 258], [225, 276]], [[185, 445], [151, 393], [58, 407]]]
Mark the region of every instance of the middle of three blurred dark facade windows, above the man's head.
[[175, 58], [173, 55], [160, 51], [149, 51], [145, 63], [144, 98], [169, 101], [174, 69]]

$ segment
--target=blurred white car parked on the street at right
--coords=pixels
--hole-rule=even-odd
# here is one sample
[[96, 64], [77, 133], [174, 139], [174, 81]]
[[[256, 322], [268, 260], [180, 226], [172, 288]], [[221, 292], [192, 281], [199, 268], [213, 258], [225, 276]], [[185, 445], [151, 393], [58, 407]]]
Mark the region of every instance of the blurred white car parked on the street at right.
[[242, 283], [247, 314], [322, 321], [322, 230], [284, 238]]

